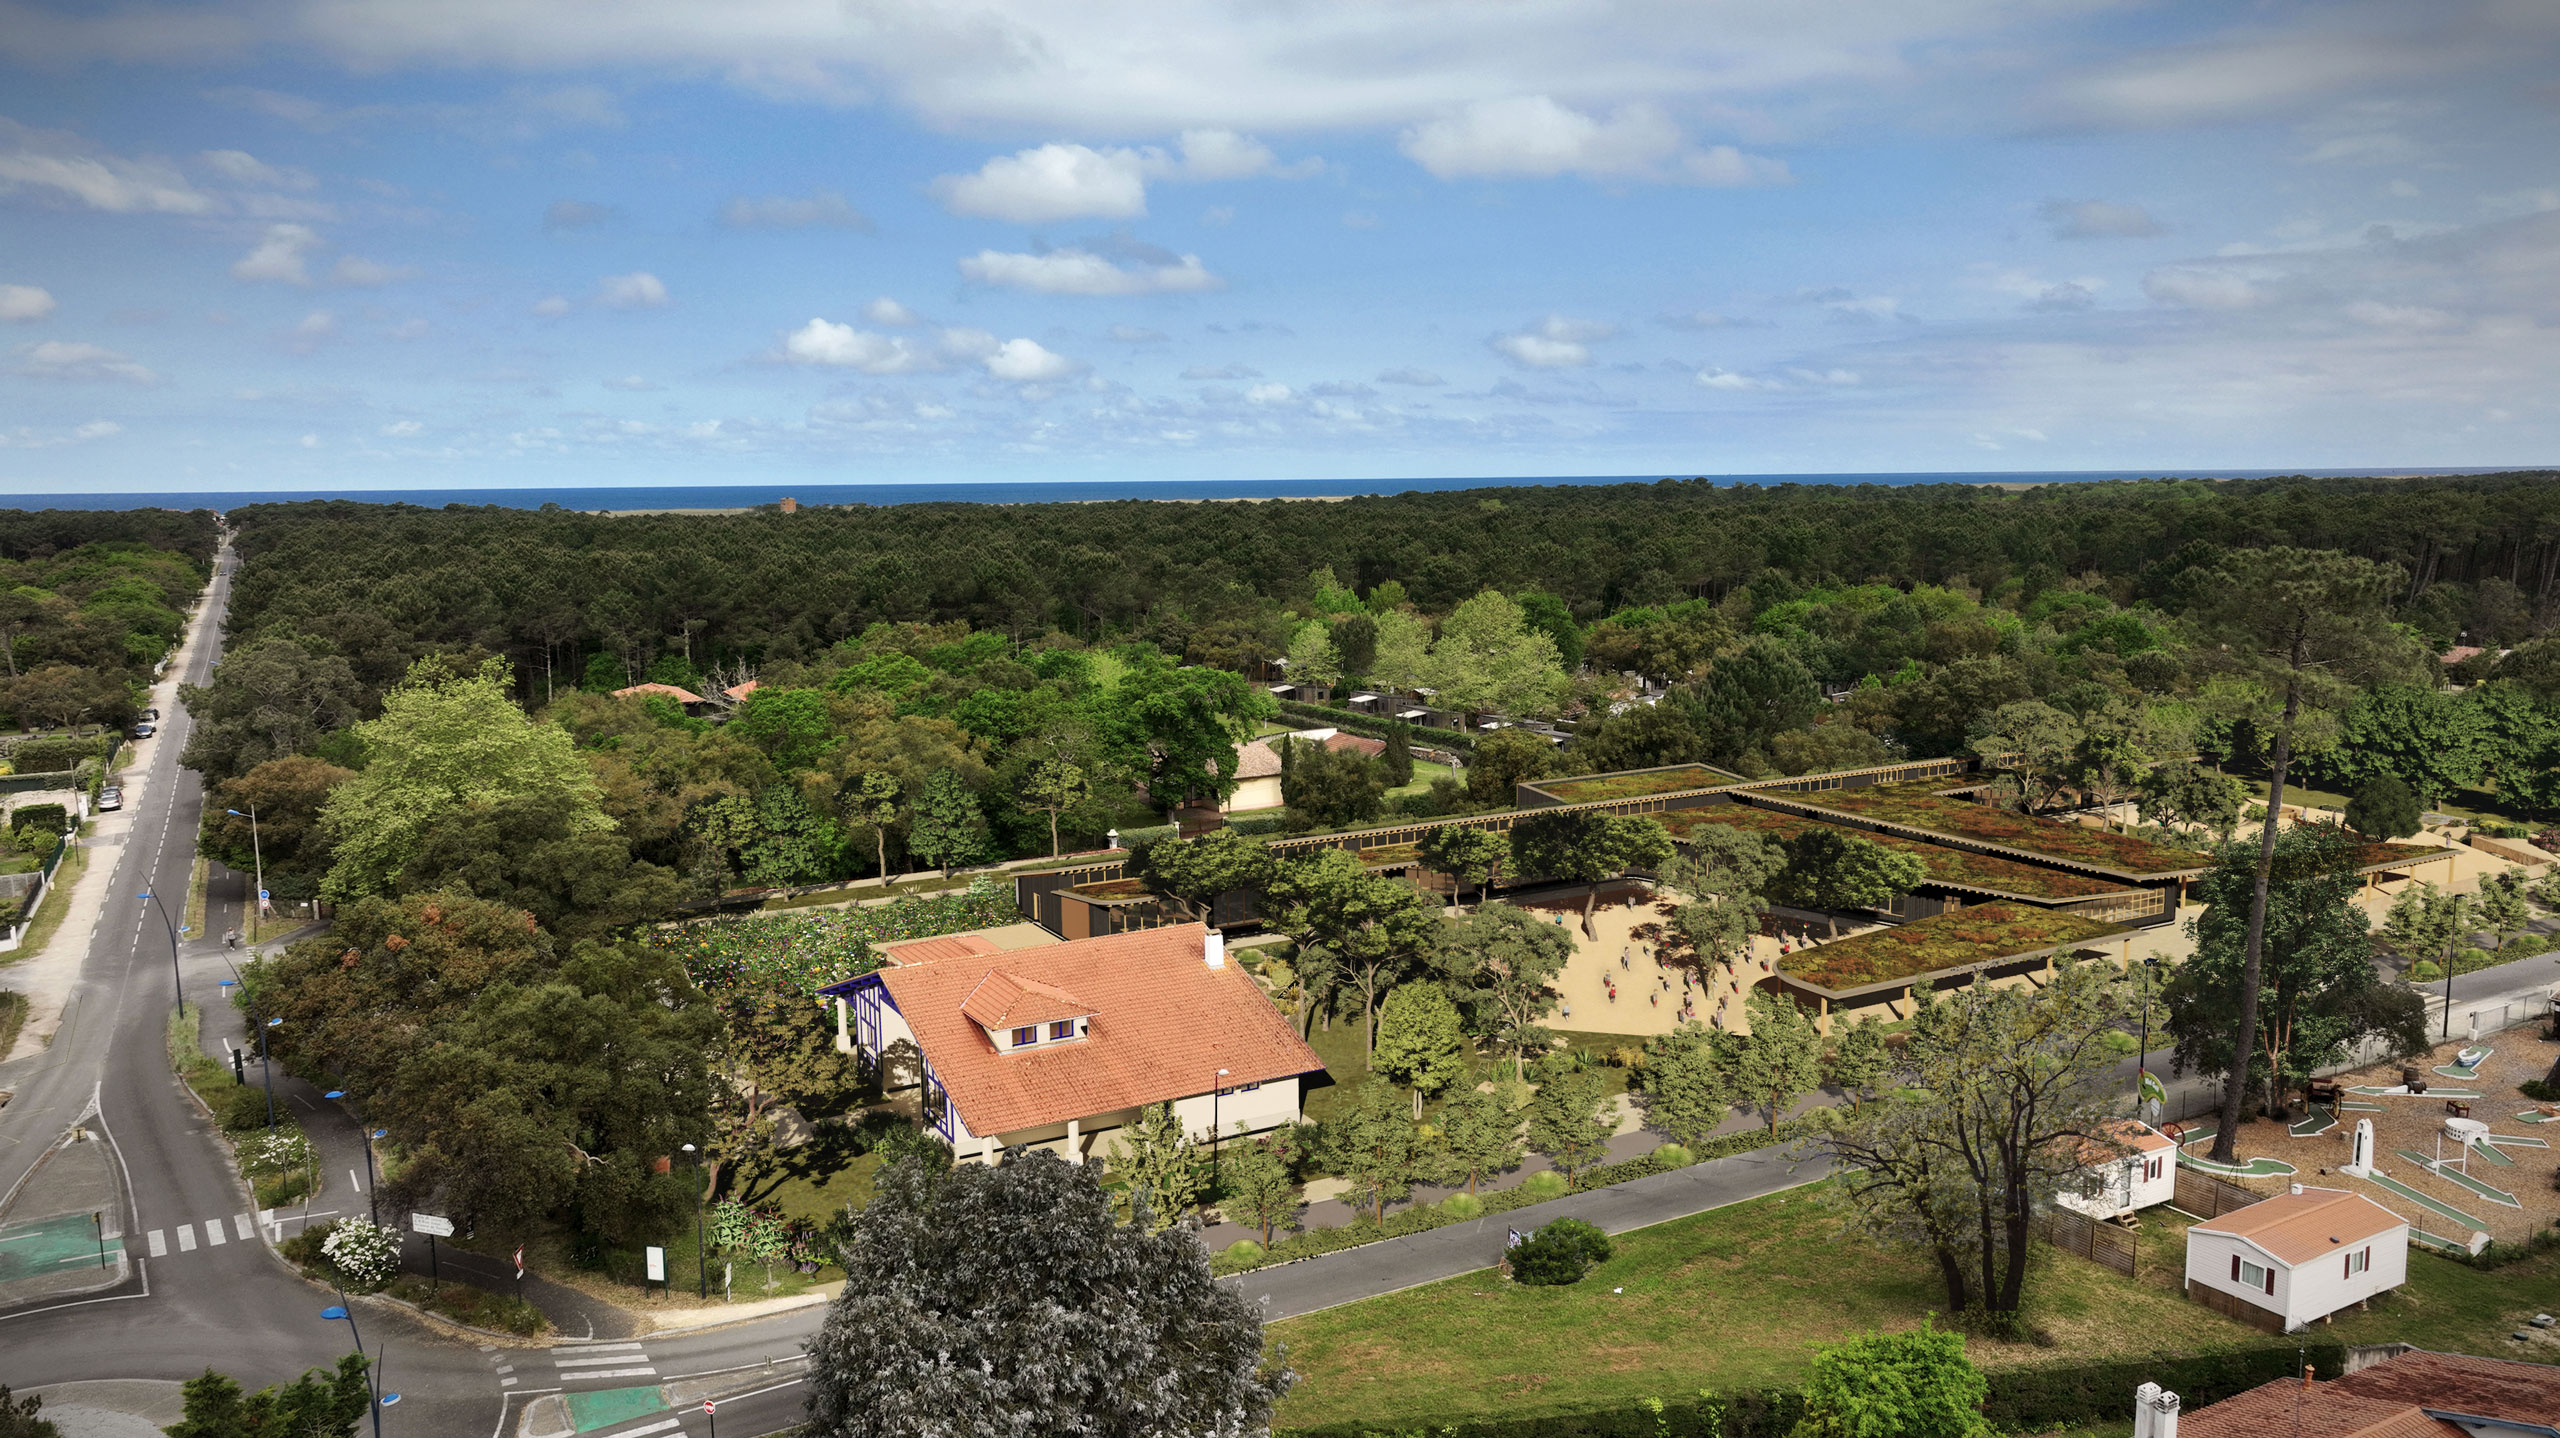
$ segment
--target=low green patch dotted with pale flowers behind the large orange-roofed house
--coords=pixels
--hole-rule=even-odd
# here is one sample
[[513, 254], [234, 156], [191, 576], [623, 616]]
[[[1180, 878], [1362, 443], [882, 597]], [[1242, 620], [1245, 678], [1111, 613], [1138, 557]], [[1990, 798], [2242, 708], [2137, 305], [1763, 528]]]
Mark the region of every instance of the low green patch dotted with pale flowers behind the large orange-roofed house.
[[1021, 913], [1014, 911], [1011, 890], [978, 880], [957, 893], [919, 893], [868, 908], [696, 919], [660, 929], [650, 942], [676, 949], [684, 972], [704, 993], [778, 980], [814, 995], [829, 983], [881, 967], [873, 944], [993, 929], [1016, 919]]

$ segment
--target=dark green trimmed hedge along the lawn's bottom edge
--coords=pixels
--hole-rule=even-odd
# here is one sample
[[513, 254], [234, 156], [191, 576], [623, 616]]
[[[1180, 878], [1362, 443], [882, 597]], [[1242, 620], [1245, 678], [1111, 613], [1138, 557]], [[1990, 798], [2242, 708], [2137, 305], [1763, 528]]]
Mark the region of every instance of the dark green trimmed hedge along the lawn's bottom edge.
[[[2348, 1348], [2335, 1341], [2309, 1341], [2284, 1348], [2235, 1348], [2225, 1354], [2181, 1354], [2120, 1364], [2056, 1364], [2033, 1369], [1994, 1369], [1981, 1415], [2002, 1433], [2043, 1433], [2081, 1423], [2120, 1420], [2132, 1412], [2132, 1389], [2145, 1382], [2179, 1395], [2194, 1412], [2209, 1402], [2296, 1377], [2299, 1364], [2322, 1374], [2345, 1371]], [[1283, 1428], [1275, 1438], [1787, 1438], [1805, 1418], [1805, 1400], [1789, 1389], [1695, 1395], [1682, 1400], [1633, 1402], [1592, 1412], [1546, 1412], [1533, 1418], [1487, 1418], [1411, 1428], [1372, 1423], [1326, 1423], [1321, 1428]]]

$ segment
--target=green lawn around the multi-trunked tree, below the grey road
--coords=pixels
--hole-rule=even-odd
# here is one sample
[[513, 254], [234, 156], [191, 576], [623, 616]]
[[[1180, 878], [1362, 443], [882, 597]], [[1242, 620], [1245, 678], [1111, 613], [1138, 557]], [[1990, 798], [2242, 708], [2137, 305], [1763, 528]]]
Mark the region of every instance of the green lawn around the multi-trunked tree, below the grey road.
[[[2148, 1238], [2145, 1256], [2156, 1249]], [[1702, 1387], [1792, 1387], [1815, 1343], [1915, 1328], [1946, 1308], [1933, 1267], [1843, 1236], [1818, 1187], [1620, 1233], [1615, 1246], [1572, 1287], [1518, 1287], [1487, 1269], [1270, 1325], [1303, 1374], [1275, 1425], [1364, 1420], [1393, 1430], [1618, 1407]], [[2186, 1302], [2173, 1284], [2127, 1282], [2053, 1249], [2040, 1256], [2028, 1320], [2053, 1346], [1976, 1338], [1976, 1364], [2266, 1341]]]

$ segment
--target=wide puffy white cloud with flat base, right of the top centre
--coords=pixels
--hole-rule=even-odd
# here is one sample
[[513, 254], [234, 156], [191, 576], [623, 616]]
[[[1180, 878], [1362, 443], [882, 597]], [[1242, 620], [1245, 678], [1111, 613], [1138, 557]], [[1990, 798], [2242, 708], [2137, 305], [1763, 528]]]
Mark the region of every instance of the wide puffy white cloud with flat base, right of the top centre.
[[1403, 133], [1398, 146], [1439, 179], [1582, 174], [1659, 184], [1784, 184], [1787, 166], [1733, 146], [1697, 148], [1654, 105], [1620, 105], [1608, 120], [1546, 95], [1477, 100]]

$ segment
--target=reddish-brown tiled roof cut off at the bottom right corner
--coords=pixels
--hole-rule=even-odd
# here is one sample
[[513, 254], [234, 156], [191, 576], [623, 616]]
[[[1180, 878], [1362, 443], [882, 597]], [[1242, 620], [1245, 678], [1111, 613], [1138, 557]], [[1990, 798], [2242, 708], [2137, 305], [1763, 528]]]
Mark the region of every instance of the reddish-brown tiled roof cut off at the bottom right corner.
[[[2135, 1428], [2140, 1433], [2140, 1428]], [[2560, 1433], [2560, 1366], [2414, 1348], [2312, 1382], [2276, 1379], [2186, 1412], [2181, 1438], [2470, 1438]]]

